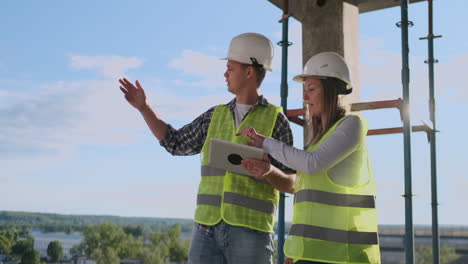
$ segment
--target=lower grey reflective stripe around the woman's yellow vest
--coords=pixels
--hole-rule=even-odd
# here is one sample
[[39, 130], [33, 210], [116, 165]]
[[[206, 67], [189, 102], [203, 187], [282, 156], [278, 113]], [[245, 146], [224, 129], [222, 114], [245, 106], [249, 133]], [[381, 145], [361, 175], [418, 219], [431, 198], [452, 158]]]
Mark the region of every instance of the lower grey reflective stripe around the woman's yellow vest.
[[320, 226], [294, 224], [291, 225], [289, 234], [348, 244], [379, 244], [377, 232], [344, 231]]

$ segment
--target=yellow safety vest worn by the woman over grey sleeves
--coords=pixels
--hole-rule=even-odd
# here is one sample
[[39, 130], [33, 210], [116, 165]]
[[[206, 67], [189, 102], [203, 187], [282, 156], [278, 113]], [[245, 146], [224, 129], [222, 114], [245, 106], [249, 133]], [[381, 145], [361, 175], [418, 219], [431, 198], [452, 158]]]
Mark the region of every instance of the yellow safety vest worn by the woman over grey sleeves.
[[[286, 256], [329, 263], [380, 263], [375, 182], [365, 143], [367, 122], [358, 117], [363, 127], [356, 150], [359, 159], [347, 172], [358, 177], [359, 184], [339, 185], [328, 171], [314, 175], [298, 172]], [[345, 118], [307, 151], [320, 146]]]

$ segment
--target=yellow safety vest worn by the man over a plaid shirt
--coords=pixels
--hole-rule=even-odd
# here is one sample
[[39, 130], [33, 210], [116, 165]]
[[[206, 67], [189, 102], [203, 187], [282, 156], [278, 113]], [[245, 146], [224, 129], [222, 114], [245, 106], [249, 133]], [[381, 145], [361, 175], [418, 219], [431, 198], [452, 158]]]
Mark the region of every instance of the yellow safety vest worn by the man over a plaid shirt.
[[246, 126], [258, 133], [271, 136], [280, 107], [258, 105], [252, 109], [238, 129], [229, 106], [218, 105], [208, 128], [208, 135], [201, 152], [202, 179], [198, 188], [195, 222], [215, 225], [224, 220], [230, 225], [273, 232], [274, 215], [279, 193], [266, 181], [258, 181], [250, 175], [240, 175], [208, 166], [210, 139], [217, 138], [239, 144], [249, 141], [236, 133]]

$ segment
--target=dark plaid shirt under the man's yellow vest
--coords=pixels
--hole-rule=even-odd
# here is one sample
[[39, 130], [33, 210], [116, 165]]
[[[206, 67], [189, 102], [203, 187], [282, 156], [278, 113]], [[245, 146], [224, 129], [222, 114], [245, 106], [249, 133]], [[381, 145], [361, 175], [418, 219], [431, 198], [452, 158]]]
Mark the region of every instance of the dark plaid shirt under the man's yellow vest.
[[[236, 107], [236, 99], [233, 99], [226, 104], [231, 110], [232, 116], [234, 118], [234, 108]], [[268, 101], [260, 96], [257, 103], [252, 107], [258, 107], [259, 105], [268, 105]], [[181, 129], [174, 129], [171, 125], [168, 125], [168, 130], [166, 137], [160, 141], [161, 146], [163, 146], [169, 153], [177, 156], [187, 156], [195, 155], [201, 152], [203, 144], [205, 144], [206, 135], [208, 134], [208, 127], [211, 123], [211, 117], [213, 116], [216, 106], [208, 109], [205, 113], [201, 114], [190, 124], [183, 126]], [[250, 111], [252, 111], [250, 109]], [[249, 111], [249, 112], [250, 112]], [[249, 112], [244, 116], [249, 114]], [[272, 138], [282, 141], [290, 146], [293, 145], [293, 138], [291, 128], [289, 127], [289, 121], [283, 113], [278, 114], [276, 119], [276, 124], [273, 129]], [[269, 156], [271, 164], [273, 166], [284, 170], [284, 171], [294, 171], [283, 164], [279, 163], [271, 156]]]

